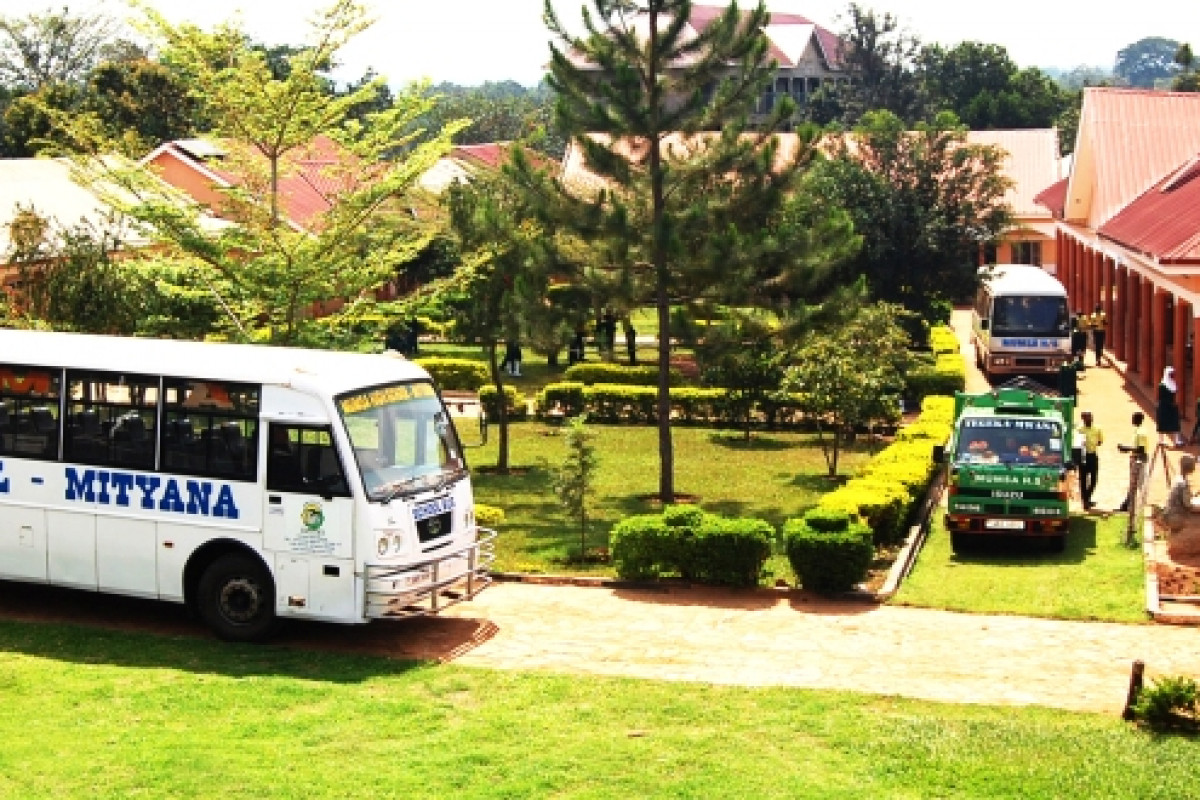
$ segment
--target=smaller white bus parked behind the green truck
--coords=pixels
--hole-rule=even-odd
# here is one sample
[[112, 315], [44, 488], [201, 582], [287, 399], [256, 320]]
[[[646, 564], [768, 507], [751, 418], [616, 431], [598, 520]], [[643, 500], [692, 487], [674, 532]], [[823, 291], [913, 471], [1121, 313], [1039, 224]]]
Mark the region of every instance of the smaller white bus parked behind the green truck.
[[1057, 373], [1070, 361], [1067, 290], [1040, 266], [980, 270], [972, 314], [976, 363], [991, 380], [1004, 374]]

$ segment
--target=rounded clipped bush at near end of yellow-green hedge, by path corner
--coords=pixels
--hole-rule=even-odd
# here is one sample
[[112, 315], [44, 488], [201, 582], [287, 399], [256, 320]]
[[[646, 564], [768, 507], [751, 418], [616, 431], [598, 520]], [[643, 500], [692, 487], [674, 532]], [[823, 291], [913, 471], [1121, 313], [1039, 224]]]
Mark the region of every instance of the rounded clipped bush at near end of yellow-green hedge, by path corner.
[[866, 577], [875, 557], [870, 528], [832, 509], [814, 509], [800, 519], [788, 519], [784, 542], [800, 585], [818, 594], [853, 589]]

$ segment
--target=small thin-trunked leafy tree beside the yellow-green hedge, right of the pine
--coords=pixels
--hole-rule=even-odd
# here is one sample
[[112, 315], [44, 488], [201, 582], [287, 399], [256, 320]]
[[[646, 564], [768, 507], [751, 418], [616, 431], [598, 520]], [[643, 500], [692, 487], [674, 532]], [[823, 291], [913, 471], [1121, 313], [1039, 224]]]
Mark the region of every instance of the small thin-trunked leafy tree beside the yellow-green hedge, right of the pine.
[[787, 367], [784, 389], [817, 423], [829, 477], [838, 475], [842, 440], [857, 427], [899, 419], [911, 360], [902, 323], [911, 315], [890, 303], [865, 306], [810, 336]]

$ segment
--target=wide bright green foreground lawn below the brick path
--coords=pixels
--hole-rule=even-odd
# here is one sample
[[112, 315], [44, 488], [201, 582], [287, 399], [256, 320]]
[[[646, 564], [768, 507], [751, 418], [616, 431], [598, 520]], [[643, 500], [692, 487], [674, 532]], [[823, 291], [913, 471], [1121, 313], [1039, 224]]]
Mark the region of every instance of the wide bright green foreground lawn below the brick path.
[[0, 622], [5, 798], [1189, 798], [1115, 716]]

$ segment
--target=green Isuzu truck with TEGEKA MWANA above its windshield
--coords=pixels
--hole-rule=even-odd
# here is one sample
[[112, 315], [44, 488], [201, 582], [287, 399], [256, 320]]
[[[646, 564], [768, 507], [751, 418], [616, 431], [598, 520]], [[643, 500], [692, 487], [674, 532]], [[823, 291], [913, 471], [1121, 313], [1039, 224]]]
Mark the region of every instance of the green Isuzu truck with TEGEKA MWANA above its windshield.
[[1074, 402], [1049, 390], [956, 392], [947, 465], [946, 528], [955, 551], [984, 537], [1044, 539], [1062, 551], [1070, 524]]

